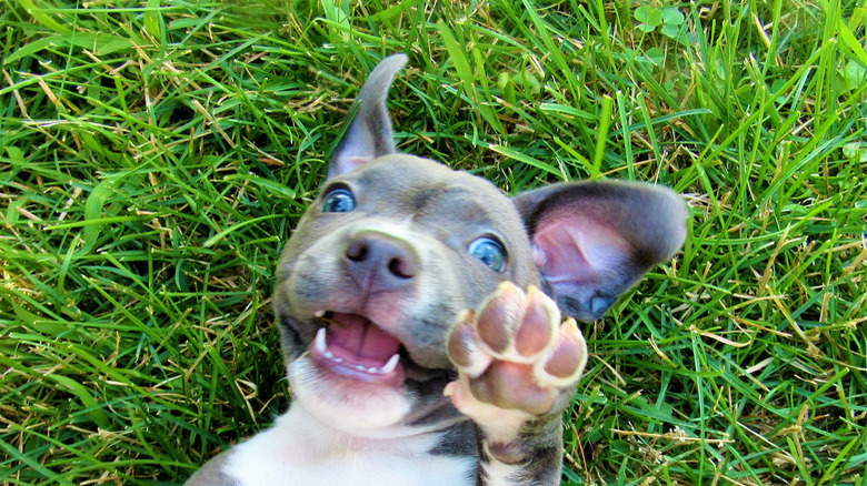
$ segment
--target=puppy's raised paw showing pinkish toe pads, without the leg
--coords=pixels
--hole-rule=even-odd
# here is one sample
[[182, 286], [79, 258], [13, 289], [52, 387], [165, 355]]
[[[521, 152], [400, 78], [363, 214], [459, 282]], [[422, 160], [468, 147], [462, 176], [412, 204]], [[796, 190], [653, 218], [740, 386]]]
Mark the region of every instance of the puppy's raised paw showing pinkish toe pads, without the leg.
[[544, 415], [571, 393], [587, 364], [574, 320], [538, 288], [504, 282], [477, 311], [466, 311], [448, 341], [460, 378], [446, 393], [470, 418], [487, 406]]

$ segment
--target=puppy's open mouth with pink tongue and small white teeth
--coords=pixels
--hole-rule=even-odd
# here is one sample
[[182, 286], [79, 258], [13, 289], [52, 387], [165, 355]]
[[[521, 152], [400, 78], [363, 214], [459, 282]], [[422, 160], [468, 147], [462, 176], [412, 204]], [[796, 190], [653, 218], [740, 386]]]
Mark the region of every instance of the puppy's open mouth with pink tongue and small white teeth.
[[[400, 342], [359, 314], [327, 312], [310, 344], [310, 360], [346, 378], [398, 387], [406, 372]], [[403, 352], [406, 355], [406, 353]]]

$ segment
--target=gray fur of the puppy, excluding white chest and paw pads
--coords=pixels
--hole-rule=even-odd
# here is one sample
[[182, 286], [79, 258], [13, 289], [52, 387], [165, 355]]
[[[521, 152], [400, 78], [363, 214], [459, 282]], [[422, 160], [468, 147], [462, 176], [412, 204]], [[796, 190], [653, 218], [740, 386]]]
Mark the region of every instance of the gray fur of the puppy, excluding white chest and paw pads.
[[[396, 153], [386, 95], [406, 61], [402, 54], [386, 58], [370, 74], [357, 117], [331, 156], [321, 195], [283, 249], [273, 306], [285, 360], [289, 365], [309, 360], [317, 331], [327, 325], [321, 311], [363, 312], [400, 342], [400, 389], [411, 406], [399, 425], [441, 434], [431, 457], [471, 458], [477, 467], [470, 480], [479, 486], [494, 486], [484, 467], [494, 463], [516, 468], [497, 486], [559, 484], [560, 416], [575, 385], [557, 388], [551, 408], [522, 423], [517, 435], [494, 442], [444, 396], [457, 375], [446, 350], [449, 333], [464, 311], [478, 308], [505, 281], [519, 288], [540, 286], [567, 315], [598, 318], [644, 272], [680, 247], [685, 205], [666, 189], [614, 182], [554, 184], [509, 199], [480, 178]], [[350, 191], [357, 207], [325, 211], [325, 198], [335, 190]], [[571, 247], [568, 231], [585, 234], [572, 227], [585, 223], [590, 224], [590, 246]], [[567, 233], [559, 226], [568, 226]], [[506, 249], [504, 271], [468, 253], [480, 236], [492, 236]], [[348, 249], [357, 244], [376, 245], [363, 267], [353, 261], [360, 259], [349, 257], [355, 250]], [[393, 272], [393, 265], [383, 264], [395, 263], [388, 261], [391, 254], [409, 259], [400, 262], [411, 272], [401, 270], [399, 279], [383, 275]], [[572, 265], [571, 255], [587, 262]], [[572, 269], [589, 273], [571, 275]], [[293, 399], [292, 406], [303, 405]], [[187, 484], [232, 486], [222, 474], [229, 454], [212, 459]], [[455, 484], [461, 480], [467, 478]]]

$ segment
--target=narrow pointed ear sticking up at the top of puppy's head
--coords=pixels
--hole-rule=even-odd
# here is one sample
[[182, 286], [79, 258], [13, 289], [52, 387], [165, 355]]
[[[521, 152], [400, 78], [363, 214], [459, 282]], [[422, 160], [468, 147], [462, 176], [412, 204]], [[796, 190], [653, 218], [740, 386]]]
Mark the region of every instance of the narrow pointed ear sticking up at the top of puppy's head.
[[392, 54], [373, 68], [356, 99], [356, 118], [331, 154], [328, 179], [346, 174], [365, 162], [395, 152], [386, 98], [395, 74], [406, 63], [405, 54]]

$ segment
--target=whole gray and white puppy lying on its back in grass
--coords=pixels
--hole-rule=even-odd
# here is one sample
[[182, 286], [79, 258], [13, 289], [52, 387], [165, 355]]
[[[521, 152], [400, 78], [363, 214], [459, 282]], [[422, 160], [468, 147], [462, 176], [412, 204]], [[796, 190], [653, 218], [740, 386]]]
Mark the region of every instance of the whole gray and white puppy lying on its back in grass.
[[560, 416], [605, 313], [686, 235], [667, 189], [507, 198], [397, 153], [377, 65], [277, 270], [289, 411], [188, 485], [556, 485]]

